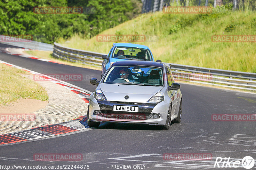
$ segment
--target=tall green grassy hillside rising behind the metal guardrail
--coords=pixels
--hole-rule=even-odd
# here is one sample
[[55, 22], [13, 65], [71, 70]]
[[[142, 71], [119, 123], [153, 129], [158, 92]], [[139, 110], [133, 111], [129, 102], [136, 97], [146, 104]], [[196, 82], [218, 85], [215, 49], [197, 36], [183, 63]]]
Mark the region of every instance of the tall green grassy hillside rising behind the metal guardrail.
[[[230, 8], [230, 7], [229, 7]], [[211, 14], [142, 14], [100, 34], [143, 34], [155, 41], [131, 42], [148, 46], [155, 60], [256, 73], [256, 43], [212, 42], [212, 35], [255, 35], [256, 13], [213, 8]], [[108, 53], [113, 42], [98, 42], [73, 35], [63, 46]]]

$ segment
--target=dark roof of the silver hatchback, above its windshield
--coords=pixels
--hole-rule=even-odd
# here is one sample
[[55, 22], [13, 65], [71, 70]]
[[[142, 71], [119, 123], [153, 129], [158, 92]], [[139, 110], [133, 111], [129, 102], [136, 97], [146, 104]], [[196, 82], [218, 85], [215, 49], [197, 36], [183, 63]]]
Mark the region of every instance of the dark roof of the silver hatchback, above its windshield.
[[164, 63], [155, 61], [138, 61], [138, 60], [122, 60], [116, 61], [112, 66], [119, 65], [140, 65], [140, 66], [153, 66], [153, 67], [164, 67]]

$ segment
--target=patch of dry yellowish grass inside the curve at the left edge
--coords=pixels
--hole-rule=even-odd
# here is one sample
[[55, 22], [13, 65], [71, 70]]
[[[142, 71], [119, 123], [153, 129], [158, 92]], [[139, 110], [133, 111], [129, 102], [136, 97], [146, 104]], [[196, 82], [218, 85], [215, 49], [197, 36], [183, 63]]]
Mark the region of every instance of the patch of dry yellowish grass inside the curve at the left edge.
[[0, 63], [0, 104], [7, 104], [20, 98], [48, 101], [46, 90], [21, 74], [26, 71]]

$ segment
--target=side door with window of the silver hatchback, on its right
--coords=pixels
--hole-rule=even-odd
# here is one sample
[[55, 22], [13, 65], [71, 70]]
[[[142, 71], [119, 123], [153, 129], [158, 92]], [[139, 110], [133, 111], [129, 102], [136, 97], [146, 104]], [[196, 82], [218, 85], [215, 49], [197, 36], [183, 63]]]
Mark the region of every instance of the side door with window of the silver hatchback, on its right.
[[[166, 74], [167, 74], [167, 81], [168, 81], [168, 87], [172, 86], [172, 83], [174, 83], [174, 80], [172, 78], [172, 73], [169, 67], [166, 67]], [[177, 107], [177, 90], [170, 90], [168, 91], [168, 95], [172, 100], [172, 115], [175, 113], [176, 107]]]

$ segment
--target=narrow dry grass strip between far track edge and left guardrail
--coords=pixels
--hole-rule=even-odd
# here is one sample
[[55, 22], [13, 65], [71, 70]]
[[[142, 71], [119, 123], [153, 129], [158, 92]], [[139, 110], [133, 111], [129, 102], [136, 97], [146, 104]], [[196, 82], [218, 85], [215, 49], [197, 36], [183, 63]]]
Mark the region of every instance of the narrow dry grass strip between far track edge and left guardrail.
[[98, 68], [98, 67], [87, 66], [87, 65], [84, 65], [84, 64], [81, 64], [81, 63], [74, 63], [74, 62], [69, 62], [69, 61], [66, 61], [66, 60], [56, 59], [52, 56], [51, 51], [31, 50], [31, 51], [24, 51], [23, 53], [33, 55], [33, 56], [36, 56], [36, 57], [39, 57], [39, 58], [42, 58], [42, 59], [48, 59], [48, 60], [56, 61], [60, 64], [66, 64], [66, 65], [69, 65], [69, 66], [90, 68], [90, 69], [94, 69], [94, 70], [101, 70], [101, 68]]

